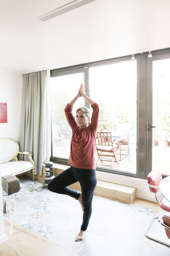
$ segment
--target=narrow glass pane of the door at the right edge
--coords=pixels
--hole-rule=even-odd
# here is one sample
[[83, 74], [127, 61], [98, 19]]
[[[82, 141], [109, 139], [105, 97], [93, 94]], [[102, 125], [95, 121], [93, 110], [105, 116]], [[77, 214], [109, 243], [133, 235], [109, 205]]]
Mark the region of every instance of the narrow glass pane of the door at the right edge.
[[153, 62], [152, 170], [169, 172], [170, 166], [170, 59]]

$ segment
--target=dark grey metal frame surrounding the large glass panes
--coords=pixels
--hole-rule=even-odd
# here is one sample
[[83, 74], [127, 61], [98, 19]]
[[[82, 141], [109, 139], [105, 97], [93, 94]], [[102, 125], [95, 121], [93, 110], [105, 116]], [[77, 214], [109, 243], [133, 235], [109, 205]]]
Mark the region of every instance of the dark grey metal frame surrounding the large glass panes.
[[[169, 53], [170, 48], [163, 50], [152, 51], [151, 53], [162, 54]], [[146, 179], [150, 170], [147, 168], [147, 111], [148, 111], [148, 77], [152, 76], [151, 70], [148, 69], [148, 54], [149, 52], [135, 54], [137, 59], [137, 173], [129, 173], [124, 171], [117, 171], [106, 169], [103, 167], [96, 167], [97, 171], [114, 173], [118, 175], [125, 175], [128, 177]], [[113, 58], [95, 62], [84, 63], [81, 65], [75, 65], [70, 67], [64, 67], [59, 69], [50, 70], [51, 77], [62, 76], [67, 74], [84, 72], [84, 84], [87, 95], [89, 96], [89, 68], [103, 65], [109, 65], [112, 63], [118, 63], [123, 61], [131, 61], [132, 55], [127, 55], [120, 58]], [[89, 103], [85, 103], [89, 107]], [[53, 153], [53, 147], [52, 147]], [[62, 157], [52, 157], [50, 161], [68, 165], [68, 159]]]

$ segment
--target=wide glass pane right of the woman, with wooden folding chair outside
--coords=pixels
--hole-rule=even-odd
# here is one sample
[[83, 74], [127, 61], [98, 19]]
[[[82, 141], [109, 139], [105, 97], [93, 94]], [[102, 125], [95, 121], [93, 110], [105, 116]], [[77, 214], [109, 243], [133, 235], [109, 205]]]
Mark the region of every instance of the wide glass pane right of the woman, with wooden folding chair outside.
[[[112, 131], [119, 139], [112, 169], [136, 173], [137, 165], [137, 61], [90, 68], [90, 97], [99, 103], [99, 131]], [[96, 154], [97, 158], [97, 154]], [[109, 159], [109, 158], [108, 158]], [[111, 157], [110, 157], [111, 159]], [[111, 162], [98, 161], [111, 168]]]

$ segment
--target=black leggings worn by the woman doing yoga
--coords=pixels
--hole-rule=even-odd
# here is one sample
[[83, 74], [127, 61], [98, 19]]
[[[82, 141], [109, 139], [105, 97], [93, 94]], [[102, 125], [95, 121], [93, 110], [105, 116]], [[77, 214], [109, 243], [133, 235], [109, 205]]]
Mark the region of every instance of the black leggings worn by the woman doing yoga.
[[92, 198], [97, 184], [96, 170], [84, 170], [70, 167], [58, 174], [48, 183], [48, 189], [57, 194], [64, 194], [79, 199], [80, 193], [67, 187], [79, 181], [84, 205], [81, 230], [86, 230], [92, 212]]

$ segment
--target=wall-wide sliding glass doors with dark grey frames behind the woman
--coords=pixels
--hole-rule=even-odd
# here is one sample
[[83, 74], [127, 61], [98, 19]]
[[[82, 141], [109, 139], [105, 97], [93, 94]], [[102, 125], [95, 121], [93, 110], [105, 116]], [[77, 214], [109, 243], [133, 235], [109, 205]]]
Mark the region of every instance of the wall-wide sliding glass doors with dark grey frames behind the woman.
[[[108, 162], [98, 161], [97, 170], [141, 179], [156, 168], [170, 174], [170, 49], [152, 55], [51, 70], [52, 161], [67, 164], [71, 130], [64, 107], [83, 83], [87, 95], [99, 103], [99, 131], [112, 131], [120, 138], [118, 165], [115, 162], [111, 169]], [[90, 107], [83, 99], [77, 103]]]

